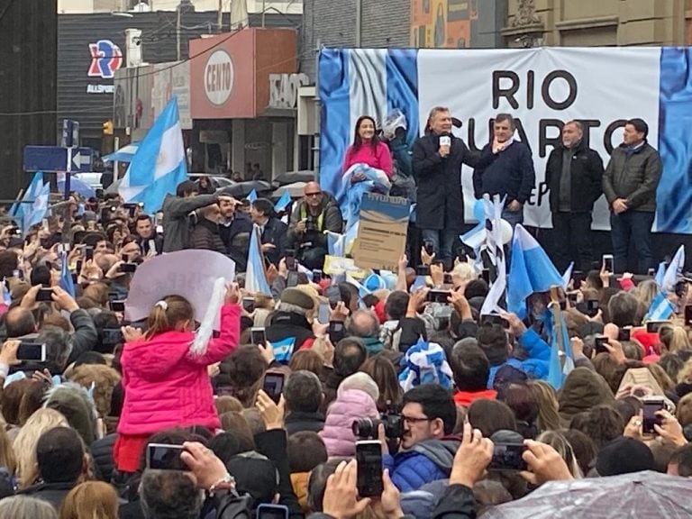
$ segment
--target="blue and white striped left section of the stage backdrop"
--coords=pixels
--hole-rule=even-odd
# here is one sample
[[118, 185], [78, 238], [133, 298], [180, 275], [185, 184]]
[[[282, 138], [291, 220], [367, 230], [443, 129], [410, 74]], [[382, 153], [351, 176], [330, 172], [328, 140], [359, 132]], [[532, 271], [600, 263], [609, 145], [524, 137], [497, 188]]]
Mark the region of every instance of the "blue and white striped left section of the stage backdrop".
[[353, 129], [361, 115], [379, 124], [399, 109], [407, 121], [406, 141], [412, 145], [420, 128], [417, 50], [324, 49], [320, 52], [320, 98], [323, 103], [320, 140], [320, 184], [341, 203], [341, 168]]

